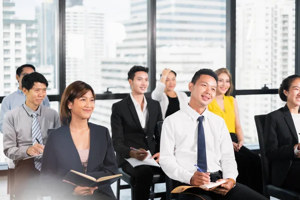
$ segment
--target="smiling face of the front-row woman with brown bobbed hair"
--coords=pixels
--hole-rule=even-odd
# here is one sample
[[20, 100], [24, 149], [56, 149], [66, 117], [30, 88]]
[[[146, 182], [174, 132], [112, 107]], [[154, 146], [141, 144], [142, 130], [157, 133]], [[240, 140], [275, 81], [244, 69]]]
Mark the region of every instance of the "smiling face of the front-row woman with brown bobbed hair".
[[95, 107], [95, 99], [89, 90], [83, 96], [74, 99], [74, 102], [68, 103], [71, 110], [71, 116], [79, 119], [88, 119]]

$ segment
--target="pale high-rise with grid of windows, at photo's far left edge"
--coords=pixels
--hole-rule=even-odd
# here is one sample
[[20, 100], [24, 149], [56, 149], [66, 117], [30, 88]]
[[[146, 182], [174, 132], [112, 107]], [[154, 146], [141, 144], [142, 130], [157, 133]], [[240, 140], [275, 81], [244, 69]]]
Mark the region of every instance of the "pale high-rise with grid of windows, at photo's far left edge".
[[24, 63], [36, 65], [37, 32], [35, 20], [14, 17], [15, 3], [5, 0], [3, 5], [3, 88], [1, 95], [15, 91], [15, 69]]

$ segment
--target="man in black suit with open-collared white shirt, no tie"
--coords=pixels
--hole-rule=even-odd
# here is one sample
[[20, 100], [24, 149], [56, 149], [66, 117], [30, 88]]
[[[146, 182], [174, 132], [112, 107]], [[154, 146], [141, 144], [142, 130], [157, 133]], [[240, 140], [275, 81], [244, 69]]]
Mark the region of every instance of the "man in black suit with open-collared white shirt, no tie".
[[[134, 176], [134, 199], [149, 198], [150, 185], [154, 172], [162, 170], [155, 166], [140, 165], [132, 167], [124, 158], [133, 157], [143, 160], [149, 150], [152, 158], [159, 161], [160, 133], [157, 122], [162, 121], [159, 102], [144, 96], [147, 90], [148, 68], [133, 66], [128, 71], [131, 93], [112, 105], [111, 132], [118, 167]], [[137, 150], [131, 150], [134, 147]]]

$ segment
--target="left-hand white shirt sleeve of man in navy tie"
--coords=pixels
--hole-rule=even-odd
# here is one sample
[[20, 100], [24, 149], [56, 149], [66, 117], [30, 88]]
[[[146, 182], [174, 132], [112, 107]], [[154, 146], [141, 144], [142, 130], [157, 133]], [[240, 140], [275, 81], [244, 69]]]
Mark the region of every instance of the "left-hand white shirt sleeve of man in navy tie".
[[162, 124], [160, 136], [159, 164], [165, 174], [171, 179], [190, 184], [193, 173], [181, 167], [174, 156], [175, 135], [172, 122], [167, 117]]

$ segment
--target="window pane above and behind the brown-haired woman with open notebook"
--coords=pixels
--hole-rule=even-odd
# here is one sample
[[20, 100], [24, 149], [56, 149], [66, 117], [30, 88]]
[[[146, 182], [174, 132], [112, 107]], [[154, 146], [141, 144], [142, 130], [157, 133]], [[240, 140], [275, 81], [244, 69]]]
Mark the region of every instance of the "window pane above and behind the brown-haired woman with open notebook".
[[[142, 2], [146, 8], [147, 2]], [[65, 9], [66, 85], [90, 84], [96, 93], [130, 91], [127, 72], [147, 65], [147, 12], [136, 14], [129, 0], [89, 0]], [[88, 21], [88, 23], [87, 23]], [[132, 24], [132, 23], [141, 24]], [[132, 33], [132, 29], [143, 29]], [[134, 38], [133, 40], [126, 40]], [[108, 71], [108, 69], [112, 71]]]

